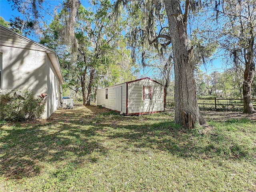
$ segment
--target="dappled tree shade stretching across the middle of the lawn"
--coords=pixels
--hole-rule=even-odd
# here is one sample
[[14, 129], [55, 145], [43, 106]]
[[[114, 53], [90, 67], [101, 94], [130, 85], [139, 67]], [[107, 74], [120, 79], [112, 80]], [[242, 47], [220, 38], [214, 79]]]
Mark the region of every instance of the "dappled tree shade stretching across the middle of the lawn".
[[[7, 178], [31, 177], [40, 173], [41, 162], [64, 162], [63, 169], [52, 173], [53, 177], [60, 176], [64, 180], [84, 161], [98, 162], [111, 148], [124, 153], [126, 150], [134, 153], [164, 151], [198, 159], [239, 160], [255, 156], [255, 147], [231, 137], [230, 132], [218, 130], [206, 136], [196, 130], [188, 132], [174, 124], [166, 113], [148, 116], [120, 116], [106, 111], [94, 112], [93, 116], [85, 113], [63, 110], [53, 115], [48, 123], [1, 128], [0, 174]], [[226, 122], [229, 123], [232, 122]]]

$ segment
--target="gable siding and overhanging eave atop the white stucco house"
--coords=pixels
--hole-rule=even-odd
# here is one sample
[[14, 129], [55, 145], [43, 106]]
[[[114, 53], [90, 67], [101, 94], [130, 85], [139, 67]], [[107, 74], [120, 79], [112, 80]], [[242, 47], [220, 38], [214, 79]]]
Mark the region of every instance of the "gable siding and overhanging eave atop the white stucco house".
[[[3, 33], [4, 31], [8, 32], [8, 33]], [[60, 63], [59, 63], [58, 56], [55, 51], [49, 49], [48, 47], [46, 47], [38, 42], [35, 42], [21, 34], [18, 34], [17, 32], [14, 32], [13, 30], [11, 30], [5, 26], [2, 26], [2, 25], [0, 25], [0, 34], [1, 34], [0, 35], [0, 45], [2, 45], [2, 46], [26, 48], [26, 49], [30, 49], [30, 50], [38, 50], [38, 51], [46, 52], [46, 54], [49, 56], [49, 58], [52, 62], [52, 65], [58, 75], [58, 78], [60, 79], [60, 82], [62, 83], [62, 85], [64, 84], [64, 79], [62, 76], [62, 72], [60, 70]], [[15, 37], [17, 37], [17, 38], [15, 38]], [[26, 42], [26, 45], [22, 44], [22, 42], [19, 41], [19, 38], [24, 40]], [[7, 43], [8, 39], [9, 40], [12, 39], [12, 42], [15, 41], [16, 43], [20, 44], [20, 46], [17, 46], [17, 44], [14, 46], [14, 44]]]

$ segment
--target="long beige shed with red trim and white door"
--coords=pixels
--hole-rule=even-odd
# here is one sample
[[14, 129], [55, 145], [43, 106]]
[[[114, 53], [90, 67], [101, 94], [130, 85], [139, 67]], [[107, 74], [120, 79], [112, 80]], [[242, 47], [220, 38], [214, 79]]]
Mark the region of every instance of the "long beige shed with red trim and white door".
[[126, 115], [164, 111], [164, 87], [148, 77], [97, 90], [97, 105]]

